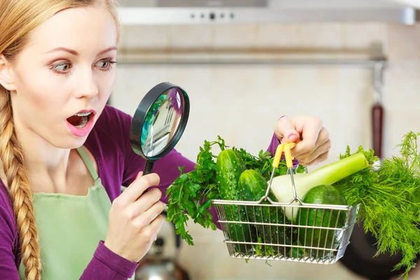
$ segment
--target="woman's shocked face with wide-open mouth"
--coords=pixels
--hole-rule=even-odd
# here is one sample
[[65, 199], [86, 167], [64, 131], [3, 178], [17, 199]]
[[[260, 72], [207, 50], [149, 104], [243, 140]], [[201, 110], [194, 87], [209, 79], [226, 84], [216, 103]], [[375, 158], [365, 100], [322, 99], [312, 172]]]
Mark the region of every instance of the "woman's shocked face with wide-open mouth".
[[15, 123], [52, 146], [81, 146], [116, 81], [116, 22], [106, 8], [70, 8], [29, 38], [11, 72]]

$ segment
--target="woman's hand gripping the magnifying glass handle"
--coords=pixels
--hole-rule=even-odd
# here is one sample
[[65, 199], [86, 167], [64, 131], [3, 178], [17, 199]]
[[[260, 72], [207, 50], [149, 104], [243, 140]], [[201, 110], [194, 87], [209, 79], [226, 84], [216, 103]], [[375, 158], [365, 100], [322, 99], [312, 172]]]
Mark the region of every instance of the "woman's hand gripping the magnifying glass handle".
[[[147, 174], [136, 180], [112, 204], [109, 212], [108, 235], [105, 246], [114, 253], [139, 262], [158, 237], [164, 218], [160, 215], [165, 205], [160, 202], [158, 174]], [[144, 193], [144, 194], [143, 194]], [[143, 195], [142, 195], [143, 194]]]

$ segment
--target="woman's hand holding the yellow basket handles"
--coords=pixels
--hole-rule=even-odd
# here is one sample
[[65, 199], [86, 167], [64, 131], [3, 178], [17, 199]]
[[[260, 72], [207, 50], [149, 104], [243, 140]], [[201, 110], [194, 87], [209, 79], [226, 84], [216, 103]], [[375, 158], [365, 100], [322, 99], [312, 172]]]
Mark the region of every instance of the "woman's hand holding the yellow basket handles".
[[277, 121], [274, 133], [281, 143], [297, 143], [290, 152], [301, 165], [316, 165], [328, 158], [330, 135], [319, 118], [285, 116]]

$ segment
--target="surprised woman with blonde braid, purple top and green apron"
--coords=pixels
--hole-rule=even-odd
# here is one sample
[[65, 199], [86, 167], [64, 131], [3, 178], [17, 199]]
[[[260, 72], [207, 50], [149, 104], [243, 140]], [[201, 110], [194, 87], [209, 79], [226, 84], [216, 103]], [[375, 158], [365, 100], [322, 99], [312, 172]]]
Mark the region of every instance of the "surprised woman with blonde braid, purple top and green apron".
[[[113, 1], [2, 0], [0, 22], [0, 279], [132, 277], [162, 225], [162, 193], [194, 162], [172, 151], [139, 174], [131, 118], [106, 106]], [[272, 148], [302, 139], [304, 165], [327, 158], [318, 118], [284, 117], [274, 132]]]

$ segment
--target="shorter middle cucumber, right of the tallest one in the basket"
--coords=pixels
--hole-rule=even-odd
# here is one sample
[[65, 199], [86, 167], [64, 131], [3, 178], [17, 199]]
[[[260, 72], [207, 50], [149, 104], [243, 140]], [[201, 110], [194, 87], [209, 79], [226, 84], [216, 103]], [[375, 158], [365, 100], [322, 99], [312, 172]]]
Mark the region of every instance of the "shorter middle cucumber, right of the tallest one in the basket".
[[[267, 181], [253, 169], [242, 172], [239, 176], [239, 196], [244, 201], [258, 201], [267, 191]], [[269, 198], [276, 202], [274, 194], [270, 191]], [[267, 201], [262, 204], [269, 204]], [[281, 207], [247, 207], [246, 214], [250, 221], [257, 223], [285, 224], [287, 219]], [[262, 237], [264, 243], [269, 244], [290, 244], [290, 227], [275, 225], [257, 225], [258, 237]], [[286, 246], [261, 246], [262, 255], [275, 255], [281, 253], [286, 255]]]

